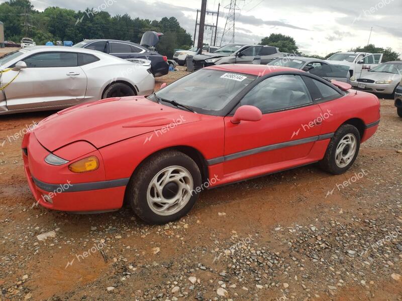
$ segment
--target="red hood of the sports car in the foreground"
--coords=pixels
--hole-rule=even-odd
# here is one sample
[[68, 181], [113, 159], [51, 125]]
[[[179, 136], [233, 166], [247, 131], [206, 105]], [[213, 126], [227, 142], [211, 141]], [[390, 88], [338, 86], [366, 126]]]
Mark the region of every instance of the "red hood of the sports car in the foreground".
[[143, 96], [108, 98], [74, 106], [39, 122], [34, 132], [50, 152], [79, 140], [96, 148], [169, 125], [199, 121], [195, 114], [155, 103]]

